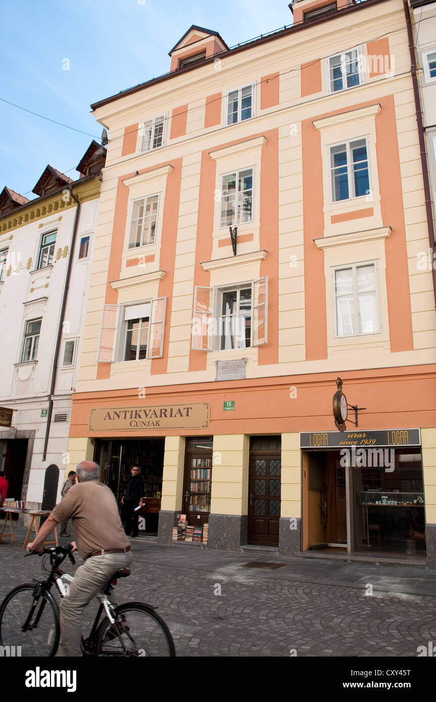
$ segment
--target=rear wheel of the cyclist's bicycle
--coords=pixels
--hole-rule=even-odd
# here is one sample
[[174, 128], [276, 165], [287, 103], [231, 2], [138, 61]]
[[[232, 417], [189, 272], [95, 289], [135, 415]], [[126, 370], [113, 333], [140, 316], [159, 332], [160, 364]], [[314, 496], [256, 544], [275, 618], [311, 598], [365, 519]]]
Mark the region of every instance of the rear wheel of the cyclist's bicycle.
[[169, 628], [147, 604], [120, 604], [115, 613], [117, 618], [113, 624], [106, 618], [98, 628], [95, 637], [98, 656], [176, 656]]

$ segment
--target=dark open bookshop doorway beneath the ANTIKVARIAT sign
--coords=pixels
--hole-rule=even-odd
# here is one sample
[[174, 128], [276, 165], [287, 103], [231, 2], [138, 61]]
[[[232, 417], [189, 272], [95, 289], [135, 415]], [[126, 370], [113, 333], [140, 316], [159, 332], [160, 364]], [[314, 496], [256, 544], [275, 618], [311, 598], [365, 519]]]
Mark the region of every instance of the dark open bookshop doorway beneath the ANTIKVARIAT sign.
[[[144, 483], [144, 507], [138, 511], [139, 533], [154, 536], [161, 509], [165, 439], [97, 439], [94, 461], [101, 467], [101, 481], [110, 487], [121, 507], [121, 497], [137, 465]], [[122, 515], [122, 509], [121, 509]]]

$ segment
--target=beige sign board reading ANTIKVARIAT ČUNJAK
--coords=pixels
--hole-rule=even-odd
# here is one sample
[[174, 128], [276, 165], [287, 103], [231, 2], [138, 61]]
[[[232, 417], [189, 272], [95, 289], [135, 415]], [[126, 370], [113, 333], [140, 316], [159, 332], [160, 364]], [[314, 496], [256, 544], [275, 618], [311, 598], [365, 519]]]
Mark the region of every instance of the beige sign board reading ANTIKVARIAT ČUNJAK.
[[124, 432], [156, 429], [207, 429], [209, 402], [150, 404], [91, 409], [90, 432]]

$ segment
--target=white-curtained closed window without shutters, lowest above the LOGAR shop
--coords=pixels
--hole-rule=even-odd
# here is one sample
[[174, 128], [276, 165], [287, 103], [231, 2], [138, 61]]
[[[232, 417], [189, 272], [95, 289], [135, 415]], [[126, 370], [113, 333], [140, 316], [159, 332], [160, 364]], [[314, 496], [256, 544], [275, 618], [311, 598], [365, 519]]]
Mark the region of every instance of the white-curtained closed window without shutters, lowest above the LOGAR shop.
[[353, 263], [333, 269], [335, 336], [381, 333], [378, 263]]

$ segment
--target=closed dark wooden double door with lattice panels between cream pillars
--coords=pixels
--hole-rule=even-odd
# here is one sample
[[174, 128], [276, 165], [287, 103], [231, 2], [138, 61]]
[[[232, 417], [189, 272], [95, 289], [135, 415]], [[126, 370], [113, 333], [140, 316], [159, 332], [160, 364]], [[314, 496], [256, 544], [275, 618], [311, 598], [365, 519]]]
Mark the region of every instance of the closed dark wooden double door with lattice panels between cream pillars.
[[251, 451], [249, 470], [249, 544], [279, 545], [282, 456], [280, 451]]

